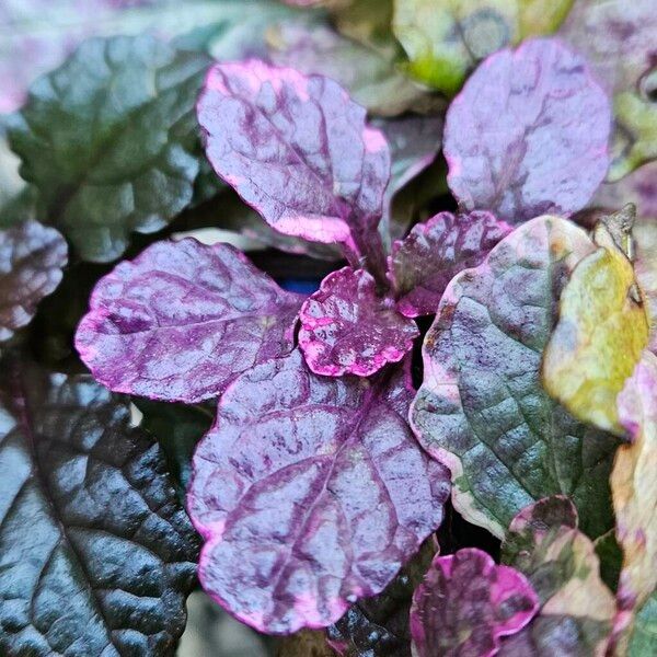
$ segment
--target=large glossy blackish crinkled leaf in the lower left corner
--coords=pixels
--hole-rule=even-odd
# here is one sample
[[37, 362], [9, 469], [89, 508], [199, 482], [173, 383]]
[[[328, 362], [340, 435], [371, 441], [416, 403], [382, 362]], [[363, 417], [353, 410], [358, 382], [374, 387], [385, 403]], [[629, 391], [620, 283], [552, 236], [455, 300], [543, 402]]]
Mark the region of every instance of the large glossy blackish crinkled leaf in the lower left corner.
[[88, 377], [3, 364], [3, 655], [173, 655], [197, 549], [126, 400]]

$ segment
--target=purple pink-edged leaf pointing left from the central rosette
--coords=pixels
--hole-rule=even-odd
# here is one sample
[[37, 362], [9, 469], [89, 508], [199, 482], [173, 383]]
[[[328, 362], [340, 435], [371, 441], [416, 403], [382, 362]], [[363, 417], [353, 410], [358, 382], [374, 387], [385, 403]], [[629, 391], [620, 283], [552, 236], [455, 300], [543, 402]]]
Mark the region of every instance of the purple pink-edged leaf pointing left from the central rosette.
[[158, 242], [99, 281], [76, 347], [115, 392], [198, 402], [288, 354], [302, 300], [229, 244]]

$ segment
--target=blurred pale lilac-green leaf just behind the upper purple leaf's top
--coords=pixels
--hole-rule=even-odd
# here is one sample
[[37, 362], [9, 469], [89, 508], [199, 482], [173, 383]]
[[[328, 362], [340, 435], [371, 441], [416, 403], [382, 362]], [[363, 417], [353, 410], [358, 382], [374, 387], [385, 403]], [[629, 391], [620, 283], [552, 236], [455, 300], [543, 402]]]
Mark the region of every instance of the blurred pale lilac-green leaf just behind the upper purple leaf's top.
[[373, 114], [395, 116], [430, 104], [427, 90], [397, 71], [388, 53], [346, 38], [326, 25], [279, 23], [269, 31], [268, 43], [274, 64], [336, 80]]

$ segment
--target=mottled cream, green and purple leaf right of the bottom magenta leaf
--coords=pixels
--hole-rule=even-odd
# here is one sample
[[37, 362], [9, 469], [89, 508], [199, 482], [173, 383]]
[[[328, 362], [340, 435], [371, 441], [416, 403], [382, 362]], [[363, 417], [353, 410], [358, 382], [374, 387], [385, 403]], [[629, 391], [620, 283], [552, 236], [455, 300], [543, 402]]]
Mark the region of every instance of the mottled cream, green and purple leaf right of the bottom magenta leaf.
[[531, 624], [503, 642], [504, 657], [603, 657], [615, 601], [600, 578], [593, 543], [567, 497], [549, 497], [514, 518], [505, 563], [527, 576], [541, 603]]

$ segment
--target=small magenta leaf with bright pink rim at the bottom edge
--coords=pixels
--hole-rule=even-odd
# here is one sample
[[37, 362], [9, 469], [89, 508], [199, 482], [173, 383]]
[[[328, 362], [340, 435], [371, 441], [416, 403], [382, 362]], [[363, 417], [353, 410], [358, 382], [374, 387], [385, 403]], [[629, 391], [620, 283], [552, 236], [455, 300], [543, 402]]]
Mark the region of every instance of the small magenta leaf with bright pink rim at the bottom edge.
[[539, 608], [531, 584], [476, 548], [437, 556], [413, 596], [415, 657], [489, 657], [499, 638], [519, 632]]

